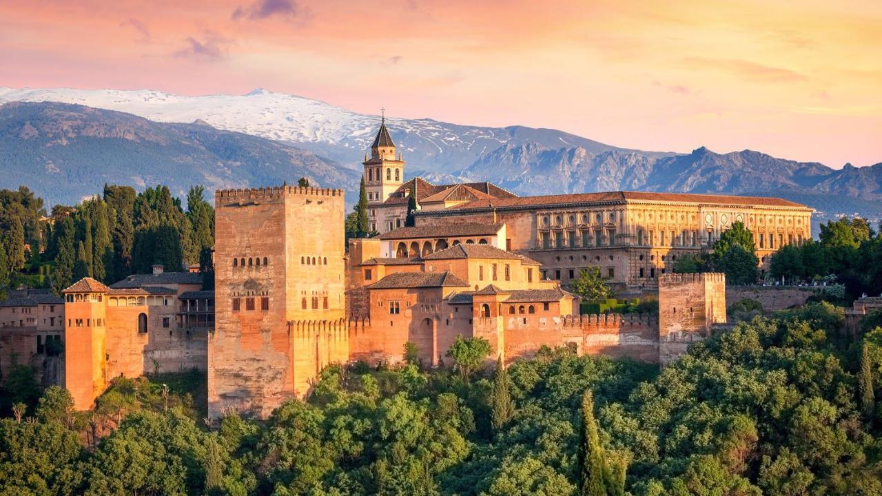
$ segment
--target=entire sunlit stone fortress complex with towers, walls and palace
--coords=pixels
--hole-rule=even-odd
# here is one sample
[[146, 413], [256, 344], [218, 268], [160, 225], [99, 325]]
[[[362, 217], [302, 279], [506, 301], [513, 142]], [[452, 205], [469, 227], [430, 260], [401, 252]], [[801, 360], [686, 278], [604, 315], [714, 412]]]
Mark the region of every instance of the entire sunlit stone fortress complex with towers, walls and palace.
[[[726, 322], [724, 276], [671, 274], [677, 256], [733, 222], [751, 229], [761, 258], [811, 237], [811, 209], [781, 199], [521, 198], [490, 183], [404, 182], [404, 166], [384, 122], [364, 161], [380, 234], [348, 246], [340, 190], [216, 192], [213, 290], [201, 274], [154, 267], [110, 286], [86, 278], [64, 300], [18, 295], [0, 304], [0, 367], [34, 364], [79, 410], [119, 375], [196, 368], [206, 372], [209, 417], [265, 418], [309, 394], [325, 365], [397, 362], [407, 342], [427, 366], [445, 364], [457, 336], [487, 339], [489, 360], [569, 346], [665, 364]], [[404, 227], [411, 194], [415, 226]], [[579, 315], [565, 286], [584, 267], [657, 295], [659, 314]], [[59, 339], [63, 347], [47, 345]]]

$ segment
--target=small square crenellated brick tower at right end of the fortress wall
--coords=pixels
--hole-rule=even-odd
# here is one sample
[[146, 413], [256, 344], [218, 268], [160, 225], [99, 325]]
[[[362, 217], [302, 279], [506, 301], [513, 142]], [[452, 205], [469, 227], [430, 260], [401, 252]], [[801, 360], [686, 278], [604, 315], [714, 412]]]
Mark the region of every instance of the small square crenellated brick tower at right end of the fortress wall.
[[726, 274], [662, 274], [659, 278], [659, 363], [684, 355], [691, 342], [726, 323]]

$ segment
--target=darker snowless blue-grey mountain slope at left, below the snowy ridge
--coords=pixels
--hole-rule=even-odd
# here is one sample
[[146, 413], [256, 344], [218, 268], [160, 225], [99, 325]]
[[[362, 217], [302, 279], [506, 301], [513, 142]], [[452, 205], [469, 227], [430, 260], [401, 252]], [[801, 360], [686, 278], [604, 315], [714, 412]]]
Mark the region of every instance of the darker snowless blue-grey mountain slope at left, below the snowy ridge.
[[214, 189], [311, 184], [357, 194], [360, 174], [280, 141], [205, 123], [155, 123], [67, 103], [0, 106], [0, 187], [25, 184], [49, 202], [73, 204], [103, 184], [167, 184], [182, 196]]

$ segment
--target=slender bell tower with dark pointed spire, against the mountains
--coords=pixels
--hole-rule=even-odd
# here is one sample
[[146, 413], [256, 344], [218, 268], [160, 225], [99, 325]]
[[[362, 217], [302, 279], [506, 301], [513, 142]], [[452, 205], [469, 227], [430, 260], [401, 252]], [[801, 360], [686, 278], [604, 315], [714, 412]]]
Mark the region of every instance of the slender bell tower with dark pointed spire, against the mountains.
[[[368, 193], [369, 207], [381, 205], [404, 183], [404, 160], [401, 154], [396, 154], [395, 143], [385, 127], [385, 109], [383, 111], [377, 138], [370, 146], [370, 157], [364, 155], [364, 189]], [[371, 224], [377, 222], [373, 215], [370, 217]], [[371, 229], [377, 229], [377, 226], [373, 225]]]

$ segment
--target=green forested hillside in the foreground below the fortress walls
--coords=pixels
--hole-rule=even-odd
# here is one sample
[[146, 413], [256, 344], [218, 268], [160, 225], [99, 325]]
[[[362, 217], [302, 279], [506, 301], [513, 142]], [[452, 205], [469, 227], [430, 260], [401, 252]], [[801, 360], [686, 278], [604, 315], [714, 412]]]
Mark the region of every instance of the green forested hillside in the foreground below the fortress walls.
[[119, 378], [74, 412], [19, 367], [0, 493], [879, 494], [878, 326], [809, 304], [662, 370], [567, 348], [500, 368], [460, 340], [447, 369], [328, 367], [265, 422], [207, 422], [198, 372]]

